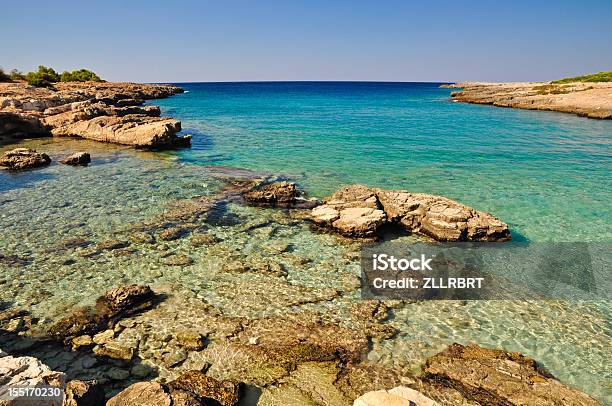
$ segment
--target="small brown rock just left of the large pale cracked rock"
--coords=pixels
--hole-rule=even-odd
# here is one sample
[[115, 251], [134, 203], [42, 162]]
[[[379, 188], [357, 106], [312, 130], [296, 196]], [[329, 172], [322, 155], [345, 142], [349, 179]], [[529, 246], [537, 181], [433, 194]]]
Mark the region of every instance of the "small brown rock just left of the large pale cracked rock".
[[242, 195], [244, 200], [254, 206], [271, 207], [313, 207], [315, 199], [306, 199], [299, 193], [293, 182], [266, 183]]

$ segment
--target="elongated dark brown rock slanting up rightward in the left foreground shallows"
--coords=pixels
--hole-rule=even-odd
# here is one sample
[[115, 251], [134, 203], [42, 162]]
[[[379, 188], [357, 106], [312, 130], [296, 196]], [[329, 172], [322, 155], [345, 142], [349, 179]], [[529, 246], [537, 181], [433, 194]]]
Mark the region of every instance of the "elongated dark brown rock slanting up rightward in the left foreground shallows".
[[51, 326], [47, 334], [70, 341], [77, 336], [94, 335], [112, 327], [128, 315], [151, 307], [155, 295], [146, 285], [127, 285], [111, 289], [96, 300], [94, 307], [80, 307]]

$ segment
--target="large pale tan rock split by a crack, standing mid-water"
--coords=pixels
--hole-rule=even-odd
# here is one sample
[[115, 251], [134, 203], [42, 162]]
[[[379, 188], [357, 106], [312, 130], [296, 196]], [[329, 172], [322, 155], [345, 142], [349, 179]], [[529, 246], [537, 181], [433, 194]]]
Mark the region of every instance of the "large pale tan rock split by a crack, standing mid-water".
[[438, 241], [504, 241], [508, 226], [489, 213], [441, 196], [345, 186], [311, 212], [315, 224], [348, 237], [372, 237], [385, 224]]

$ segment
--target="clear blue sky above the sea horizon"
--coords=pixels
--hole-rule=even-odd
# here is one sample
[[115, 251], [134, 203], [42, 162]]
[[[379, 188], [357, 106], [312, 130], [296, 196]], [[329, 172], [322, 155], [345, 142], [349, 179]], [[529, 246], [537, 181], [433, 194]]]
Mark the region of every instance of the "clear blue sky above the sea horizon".
[[548, 80], [612, 70], [611, 0], [9, 1], [0, 66], [107, 80]]

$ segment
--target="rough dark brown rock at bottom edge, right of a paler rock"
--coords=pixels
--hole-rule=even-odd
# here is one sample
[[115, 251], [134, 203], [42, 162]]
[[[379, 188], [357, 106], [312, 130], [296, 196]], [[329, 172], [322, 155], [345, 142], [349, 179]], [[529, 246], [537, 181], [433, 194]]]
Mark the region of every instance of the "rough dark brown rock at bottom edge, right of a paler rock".
[[238, 385], [232, 381], [218, 381], [200, 371], [187, 371], [178, 379], [170, 382], [172, 390], [182, 390], [194, 394], [204, 404], [216, 401], [221, 406], [238, 404]]

